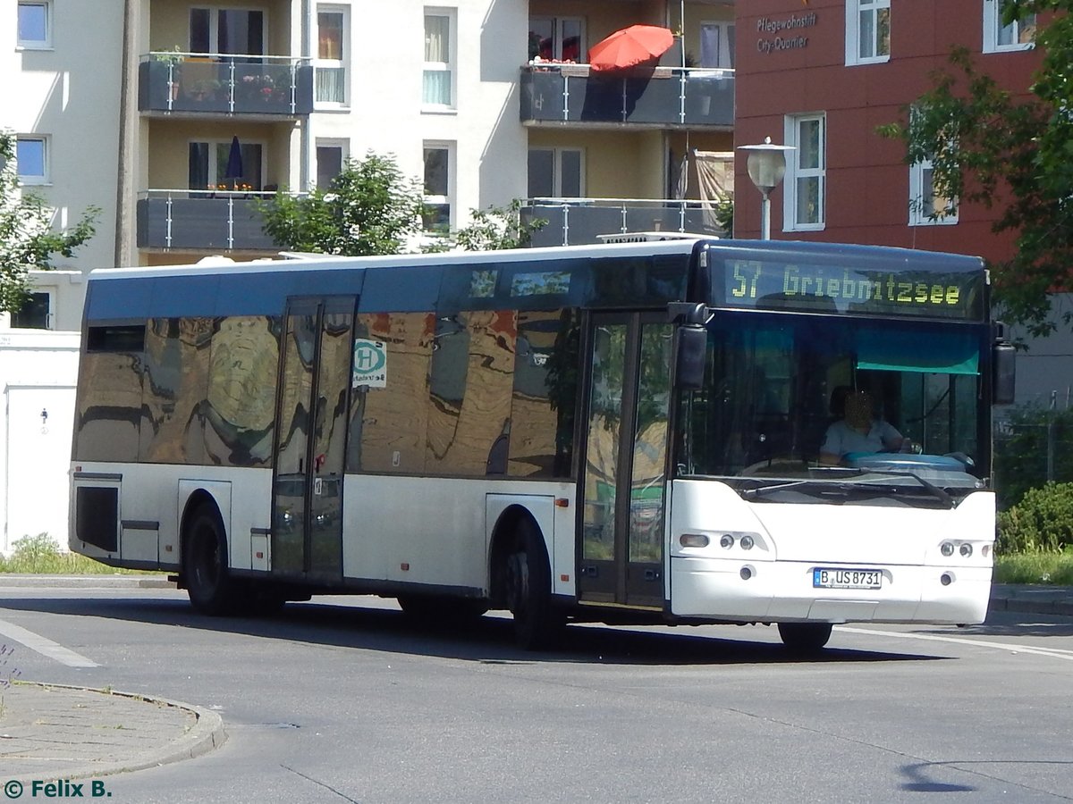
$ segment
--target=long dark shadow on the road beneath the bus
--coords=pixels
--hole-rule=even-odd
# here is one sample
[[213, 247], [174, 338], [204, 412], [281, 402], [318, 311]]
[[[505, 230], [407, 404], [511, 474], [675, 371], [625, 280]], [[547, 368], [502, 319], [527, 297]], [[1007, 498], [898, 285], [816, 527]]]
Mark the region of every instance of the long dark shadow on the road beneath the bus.
[[[844, 662], [938, 660], [914, 653], [828, 647], [807, 656], [788, 652], [774, 627], [702, 626], [693, 629], [575, 624], [553, 651], [530, 653], [513, 643], [509, 616], [485, 615], [464, 627], [420, 627], [397, 609], [365, 608], [363, 598], [346, 602], [288, 604], [273, 617], [208, 617], [178, 596], [0, 598], [0, 611], [36, 611], [153, 625], [244, 634], [275, 640], [364, 651], [439, 656], [480, 664], [533, 665], [543, 661], [604, 665], [832, 665]], [[368, 600], [369, 598], [365, 598]], [[703, 635], [702, 631], [703, 630]], [[741, 639], [736, 637], [743, 635]], [[735, 636], [730, 636], [735, 635]], [[836, 632], [833, 640], [837, 642]], [[774, 640], [774, 641], [773, 641]]]

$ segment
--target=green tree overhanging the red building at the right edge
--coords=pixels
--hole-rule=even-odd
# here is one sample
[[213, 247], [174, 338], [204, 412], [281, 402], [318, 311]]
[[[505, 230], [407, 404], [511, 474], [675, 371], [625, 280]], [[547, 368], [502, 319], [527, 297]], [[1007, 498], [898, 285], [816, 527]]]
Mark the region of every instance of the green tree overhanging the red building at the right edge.
[[[906, 121], [880, 126], [901, 138], [906, 161], [931, 160], [937, 194], [987, 208], [1004, 205], [993, 230], [1014, 235], [1010, 259], [989, 267], [1002, 315], [1034, 336], [1055, 329], [1050, 294], [1073, 291], [1073, 0], [1008, 0], [1003, 23], [1059, 12], [1038, 29], [1042, 64], [1014, 100], [976, 70], [965, 48], [950, 58], [953, 73], [906, 110]], [[1073, 311], [1060, 315], [1073, 326]]]

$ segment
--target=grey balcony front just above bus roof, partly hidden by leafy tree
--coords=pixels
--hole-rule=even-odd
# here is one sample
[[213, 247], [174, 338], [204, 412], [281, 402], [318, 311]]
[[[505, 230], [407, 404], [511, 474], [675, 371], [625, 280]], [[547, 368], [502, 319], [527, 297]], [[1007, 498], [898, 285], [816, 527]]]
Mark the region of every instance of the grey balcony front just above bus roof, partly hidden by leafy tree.
[[137, 200], [137, 248], [278, 251], [262, 228], [256, 199], [275, 193], [148, 190]]

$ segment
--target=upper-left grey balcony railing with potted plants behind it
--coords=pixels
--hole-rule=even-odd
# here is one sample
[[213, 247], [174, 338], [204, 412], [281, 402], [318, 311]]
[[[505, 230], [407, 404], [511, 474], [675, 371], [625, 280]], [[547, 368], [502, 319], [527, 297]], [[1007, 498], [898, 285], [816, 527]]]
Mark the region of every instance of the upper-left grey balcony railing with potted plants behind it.
[[313, 66], [285, 56], [150, 53], [138, 64], [138, 109], [308, 115]]

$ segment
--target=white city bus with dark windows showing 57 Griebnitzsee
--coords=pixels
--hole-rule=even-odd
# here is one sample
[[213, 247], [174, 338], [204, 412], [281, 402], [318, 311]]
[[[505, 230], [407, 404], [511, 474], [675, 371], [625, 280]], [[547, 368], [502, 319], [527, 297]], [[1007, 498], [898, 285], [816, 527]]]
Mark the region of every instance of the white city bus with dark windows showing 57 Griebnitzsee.
[[[443, 624], [979, 623], [980, 259], [672, 240], [98, 270], [71, 549], [209, 614], [314, 594]], [[916, 446], [820, 460], [848, 390]]]

